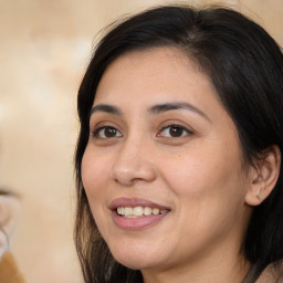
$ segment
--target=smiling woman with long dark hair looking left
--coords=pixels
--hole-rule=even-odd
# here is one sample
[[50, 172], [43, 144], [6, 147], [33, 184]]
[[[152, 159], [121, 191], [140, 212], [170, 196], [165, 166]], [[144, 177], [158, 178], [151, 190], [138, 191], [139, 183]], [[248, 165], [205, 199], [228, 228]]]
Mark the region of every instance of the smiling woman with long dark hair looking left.
[[85, 282], [279, 282], [283, 55], [262, 28], [223, 8], [132, 17], [77, 107]]

